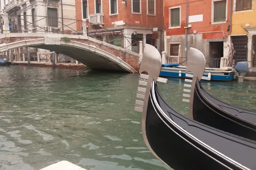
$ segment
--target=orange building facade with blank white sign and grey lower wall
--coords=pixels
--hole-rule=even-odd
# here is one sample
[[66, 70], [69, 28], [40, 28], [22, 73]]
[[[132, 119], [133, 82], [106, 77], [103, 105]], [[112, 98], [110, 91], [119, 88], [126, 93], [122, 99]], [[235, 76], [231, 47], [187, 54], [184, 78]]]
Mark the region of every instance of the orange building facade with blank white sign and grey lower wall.
[[175, 59], [181, 44], [181, 60], [185, 60], [186, 51], [188, 56], [190, 47], [197, 48], [207, 59], [207, 66], [218, 68], [221, 57], [228, 54], [231, 0], [187, 1], [164, 0], [167, 57]]

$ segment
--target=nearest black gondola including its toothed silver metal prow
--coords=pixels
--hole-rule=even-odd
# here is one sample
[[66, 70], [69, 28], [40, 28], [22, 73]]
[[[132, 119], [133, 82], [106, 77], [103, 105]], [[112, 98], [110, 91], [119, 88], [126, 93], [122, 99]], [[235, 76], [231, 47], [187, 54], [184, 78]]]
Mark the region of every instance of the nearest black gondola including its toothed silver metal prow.
[[151, 153], [175, 170], [255, 170], [256, 142], [175, 111], [157, 88], [156, 81], [165, 81], [158, 77], [160, 69], [159, 52], [146, 44], [139, 81], [146, 88], [139, 87], [137, 94], [144, 101], [136, 100], [135, 110], [142, 111], [143, 138]]

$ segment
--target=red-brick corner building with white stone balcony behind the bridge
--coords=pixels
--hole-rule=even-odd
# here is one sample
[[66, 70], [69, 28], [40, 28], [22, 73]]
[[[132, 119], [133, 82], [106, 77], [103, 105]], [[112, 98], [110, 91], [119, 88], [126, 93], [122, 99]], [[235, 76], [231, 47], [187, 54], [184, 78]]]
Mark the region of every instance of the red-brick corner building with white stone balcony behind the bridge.
[[76, 0], [76, 19], [163, 51], [163, 0]]

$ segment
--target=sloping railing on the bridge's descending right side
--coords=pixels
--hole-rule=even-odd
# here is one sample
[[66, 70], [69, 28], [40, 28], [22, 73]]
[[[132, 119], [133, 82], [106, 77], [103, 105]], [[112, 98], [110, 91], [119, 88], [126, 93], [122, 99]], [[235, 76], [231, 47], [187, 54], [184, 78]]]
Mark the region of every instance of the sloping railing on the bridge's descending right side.
[[88, 36], [108, 42], [110, 44], [120, 46], [122, 48], [139, 53], [139, 42], [132, 40], [129, 37], [125, 37], [122, 32], [116, 33], [110, 31], [102, 26], [90, 23], [87, 21]]

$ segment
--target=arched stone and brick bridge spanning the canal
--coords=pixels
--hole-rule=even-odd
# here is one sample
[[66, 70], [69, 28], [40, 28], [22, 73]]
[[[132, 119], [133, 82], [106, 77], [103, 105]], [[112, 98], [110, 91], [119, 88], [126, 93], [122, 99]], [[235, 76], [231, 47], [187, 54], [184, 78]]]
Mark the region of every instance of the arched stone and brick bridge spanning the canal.
[[0, 52], [42, 48], [70, 56], [91, 69], [136, 73], [141, 54], [86, 35], [48, 33], [0, 34]]

